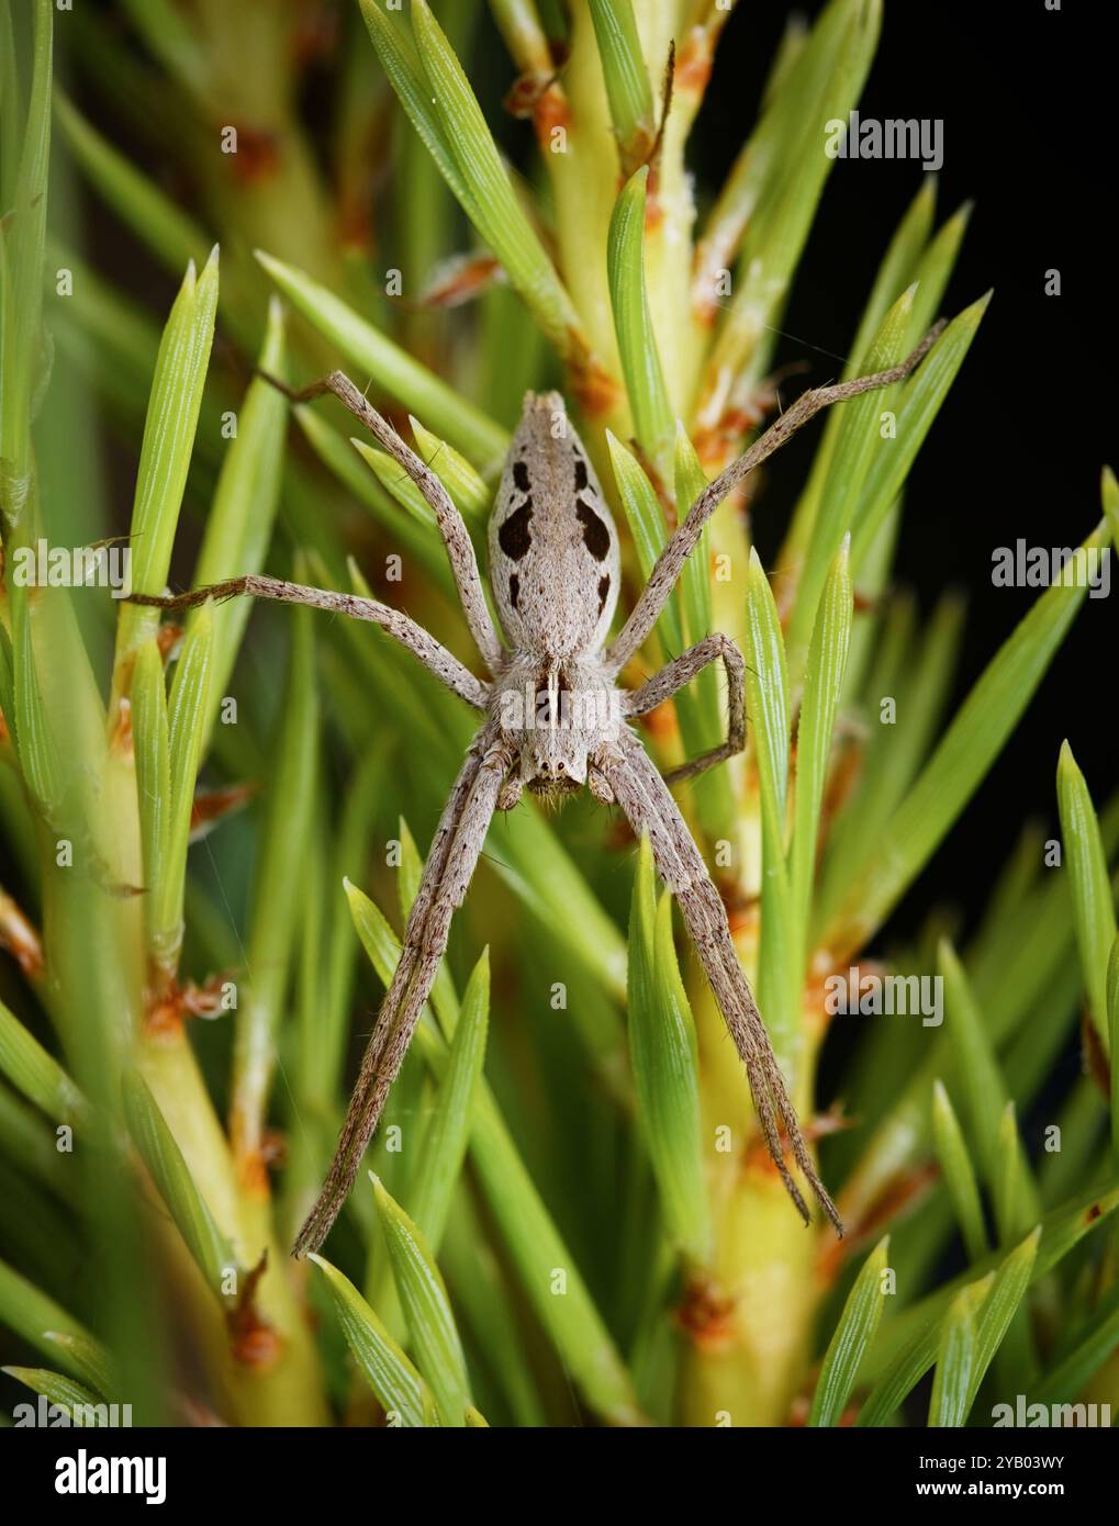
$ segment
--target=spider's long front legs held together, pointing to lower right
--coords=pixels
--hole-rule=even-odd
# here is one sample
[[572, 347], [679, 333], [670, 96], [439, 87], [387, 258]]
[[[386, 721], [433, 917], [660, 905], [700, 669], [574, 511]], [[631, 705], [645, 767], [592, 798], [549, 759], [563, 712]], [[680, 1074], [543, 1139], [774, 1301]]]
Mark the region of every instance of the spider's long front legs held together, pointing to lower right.
[[843, 1235], [843, 1221], [820, 1181], [800, 1132], [797, 1112], [785, 1087], [769, 1035], [731, 942], [727, 911], [719, 891], [711, 884], [702, 855], [692, 839], [667, 784], [637, 737], [624, 731], [618, 739], [618, 748], [620, 755], [603, 755], [598, 766], [606, 774], [634, 830], [647, 833], [658, 873], [679, 902], [704, 974], [711, 984], [742, 1064], [747, 1067], [754, 1108], [774, 1166], [801, 1218], [808, 1222], [808, 1207], [785, 1163], [779, 1132], [780, 1119], [797, 1166], [837, 1233]]

